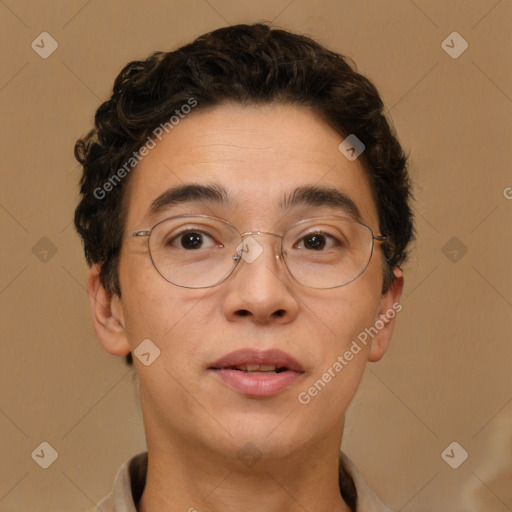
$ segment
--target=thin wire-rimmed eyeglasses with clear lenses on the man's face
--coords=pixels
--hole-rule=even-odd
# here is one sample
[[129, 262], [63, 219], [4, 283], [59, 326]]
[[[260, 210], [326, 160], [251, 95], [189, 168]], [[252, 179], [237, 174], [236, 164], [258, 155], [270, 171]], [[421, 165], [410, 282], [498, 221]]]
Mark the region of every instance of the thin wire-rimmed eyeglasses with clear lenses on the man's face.
[[[346, 217], [316, 217], [288, 226], [282, 235], [262, 231], [240, 233], [224, 219], [208, 215], [177, 215], [157, 222], [149, 231], [148, 251], [155, 269], [184, 288], [210, 288], [224, 282], [244, 260], [263, 252], [255, 237], [274, 238], [277, 259], [292, 277], [309, 288], [344, 286], [368, 267], [374, 241], [371, 228]], [[260, 240], [261, 241], [261, 240]]]

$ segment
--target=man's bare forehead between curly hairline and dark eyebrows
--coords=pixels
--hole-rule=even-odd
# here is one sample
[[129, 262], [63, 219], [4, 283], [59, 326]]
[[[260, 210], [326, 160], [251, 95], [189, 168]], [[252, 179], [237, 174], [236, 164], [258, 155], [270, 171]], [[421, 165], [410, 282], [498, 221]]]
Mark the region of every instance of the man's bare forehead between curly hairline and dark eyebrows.
[[[376, 227], [365, 172], [358, 160], [349, 161], [339, 151], [342, 140], [305, 107], [198, 108], [162, 140], [156, 139], [156, 146], [132, 171], [125, 196], [126, 226], [145, 229], [158, 220], [165, 211], [151, 215], [151, 206], [166, 191], [202, 185], [224, 189], [222, 212], [246, 217], [260, 229], [261, 223], [272, 223], [282, 213], [294, 191], [311, 187], [341, 192], [355, 204], [363, 222]], [[189, 201], [196, 207], [198, 202]]]

